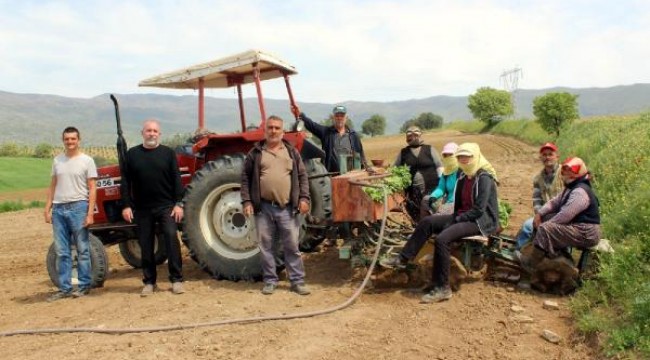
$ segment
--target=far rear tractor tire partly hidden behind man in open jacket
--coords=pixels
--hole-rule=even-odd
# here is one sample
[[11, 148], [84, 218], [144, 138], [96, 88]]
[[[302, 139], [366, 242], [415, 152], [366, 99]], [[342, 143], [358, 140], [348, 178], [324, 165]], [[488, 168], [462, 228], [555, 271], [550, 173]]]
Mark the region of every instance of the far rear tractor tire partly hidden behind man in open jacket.
[[[308, 176], [327, 174], [327, 169], [319, 159], [305, 161]], [[319, 223], [327, 223], [332, 218], [332, 184], [329, 176], [309, 180], [309, 197], [311, 198], [311, 216]], [[313, 252], [325, 240], [325, 231], [310, 228], [304, 217], [300, 222], [300, 251]]]

